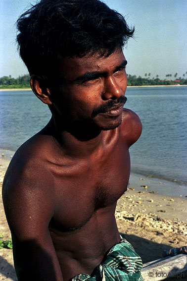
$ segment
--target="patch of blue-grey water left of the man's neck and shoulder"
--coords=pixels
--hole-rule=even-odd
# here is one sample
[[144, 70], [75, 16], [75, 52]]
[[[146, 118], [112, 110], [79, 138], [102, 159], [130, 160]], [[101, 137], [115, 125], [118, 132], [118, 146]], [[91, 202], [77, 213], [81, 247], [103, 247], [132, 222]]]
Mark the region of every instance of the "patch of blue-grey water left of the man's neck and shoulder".
[[0, 91], [0, 147], [17, 150], [49, 121], [47, 105], [32, 91]]

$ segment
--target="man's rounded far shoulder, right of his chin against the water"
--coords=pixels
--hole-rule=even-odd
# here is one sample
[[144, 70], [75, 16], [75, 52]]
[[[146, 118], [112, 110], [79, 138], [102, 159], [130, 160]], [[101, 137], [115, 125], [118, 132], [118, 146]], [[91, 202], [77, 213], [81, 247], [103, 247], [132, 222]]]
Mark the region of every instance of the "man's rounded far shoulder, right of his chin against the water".
[[122, 124], [120, 125], [120, 136], [130, 147], [133, 145], [141, 135], [142, 124], [139, 116], [129, 109], [123, 110]]

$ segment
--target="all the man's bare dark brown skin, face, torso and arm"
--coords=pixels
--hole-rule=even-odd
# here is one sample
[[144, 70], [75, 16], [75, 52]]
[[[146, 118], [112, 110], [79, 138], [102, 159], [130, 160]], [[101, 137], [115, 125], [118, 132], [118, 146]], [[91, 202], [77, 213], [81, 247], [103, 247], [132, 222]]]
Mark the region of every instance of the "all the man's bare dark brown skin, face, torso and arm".
[[141, 133], [139, 117], [119, 102], [125, 65], [117, 50], [65, 58], [50, 87], [31, 78], [52, 118], [19, 148], [4, 178], [19, 281], [91, 275], [120, 241], [114, 213], [127, 190], [129, 147]]

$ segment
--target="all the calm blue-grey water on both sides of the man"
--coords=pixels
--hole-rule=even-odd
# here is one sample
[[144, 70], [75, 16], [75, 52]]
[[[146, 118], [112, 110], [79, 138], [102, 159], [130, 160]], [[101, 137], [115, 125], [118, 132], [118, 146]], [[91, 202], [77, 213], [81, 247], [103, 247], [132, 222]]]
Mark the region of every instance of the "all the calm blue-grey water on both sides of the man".
[[[187, 181], [187, 88], [128, 88], [126, 107], [143, 124], [132, 146], [132, 170]], [[32, 91], [0, 92], [0, 148], [15, 151], [51, 116]]]

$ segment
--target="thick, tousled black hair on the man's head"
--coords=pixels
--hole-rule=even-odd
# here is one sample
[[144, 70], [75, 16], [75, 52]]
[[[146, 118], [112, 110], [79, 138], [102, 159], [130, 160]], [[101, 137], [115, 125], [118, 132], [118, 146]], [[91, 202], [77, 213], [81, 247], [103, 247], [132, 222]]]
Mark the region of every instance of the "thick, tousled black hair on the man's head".
[[133, 36], [124, 17], [99, 0], [41, 0], [17, 20], [30, 75], [48, 75], [65, 56], [109, 56]]

